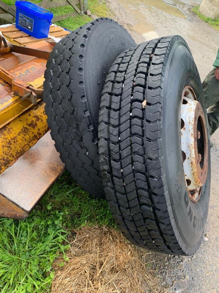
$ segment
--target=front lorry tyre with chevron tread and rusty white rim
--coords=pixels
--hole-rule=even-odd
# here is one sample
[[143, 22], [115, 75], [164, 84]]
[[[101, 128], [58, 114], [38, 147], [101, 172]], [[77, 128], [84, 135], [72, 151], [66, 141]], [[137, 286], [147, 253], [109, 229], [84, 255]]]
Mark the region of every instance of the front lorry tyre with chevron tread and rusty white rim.
[[124, 236], [193, 255], [208, 214], [210, 148], [201, 80], [182, 37], [142, 43], [115, 60], [98, 136], [105, 195]]

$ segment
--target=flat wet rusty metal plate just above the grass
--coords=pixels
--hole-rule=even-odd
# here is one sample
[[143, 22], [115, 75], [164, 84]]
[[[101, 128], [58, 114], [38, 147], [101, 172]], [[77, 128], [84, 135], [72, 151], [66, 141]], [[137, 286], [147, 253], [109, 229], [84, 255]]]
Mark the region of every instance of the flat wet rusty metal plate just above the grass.
[[[47, 132], [0, 175], [0, 194], [29, 213], [64, 168], [50, 132]], [[0, 209], [0, 216], [1, 210], [4, 208]], [[2, 216], [12, 217], [12, 214], [9, 210], [8, 215]]]

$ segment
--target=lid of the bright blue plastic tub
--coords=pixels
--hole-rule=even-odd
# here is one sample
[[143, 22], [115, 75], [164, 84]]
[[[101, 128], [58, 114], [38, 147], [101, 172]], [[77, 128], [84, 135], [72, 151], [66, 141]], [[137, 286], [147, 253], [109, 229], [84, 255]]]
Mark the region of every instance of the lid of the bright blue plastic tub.
[[39, 18], [53, 18], [53, 13], [28, 1], [15, 1], [15, 6]]

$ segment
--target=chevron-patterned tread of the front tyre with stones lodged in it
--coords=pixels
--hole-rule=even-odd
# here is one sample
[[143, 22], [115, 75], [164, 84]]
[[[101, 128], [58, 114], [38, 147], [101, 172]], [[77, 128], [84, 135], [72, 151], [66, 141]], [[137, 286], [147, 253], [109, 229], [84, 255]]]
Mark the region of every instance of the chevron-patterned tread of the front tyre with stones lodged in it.
[[180, 36], [156, 39], [115, 60], [103, 89], [99, 154], [106, 198], [124, 236], [150, 250], [188, 255], [194, 251], [185, 250], [176, 229], [161, 138], [164, 71], [176, 40], [185, 43]]

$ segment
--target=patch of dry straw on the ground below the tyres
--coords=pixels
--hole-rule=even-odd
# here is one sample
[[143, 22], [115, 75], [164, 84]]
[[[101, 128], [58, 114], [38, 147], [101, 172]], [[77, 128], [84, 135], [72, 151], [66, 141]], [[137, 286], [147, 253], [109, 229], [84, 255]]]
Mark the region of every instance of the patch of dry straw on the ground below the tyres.
[[138, 250], [114, 229], [80, 229], [67, 257], [63, 267], [54, 263], [52, 293], [163, 292]]

